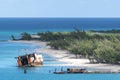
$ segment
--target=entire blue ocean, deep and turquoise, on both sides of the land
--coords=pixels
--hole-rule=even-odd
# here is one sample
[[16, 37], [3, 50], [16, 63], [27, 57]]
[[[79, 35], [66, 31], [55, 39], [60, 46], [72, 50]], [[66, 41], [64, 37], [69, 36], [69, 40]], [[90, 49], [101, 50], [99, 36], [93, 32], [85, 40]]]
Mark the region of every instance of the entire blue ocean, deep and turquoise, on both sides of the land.
[[[120, 29], [120, 18], [0, 18], [0, 40], [10, 40], [11, 35], [20, 37], [22, 32], [31, 34], [45, 31], [65, 32], [75, 28], [82, 30]], [[17, 66], [15, 57], [33, 52], [42, 45], [0, 41], [0, 80], [119, 80], [120, 74], [53, 74], [63, 67], [62, 63], [45, 53], [44, 65], [41, 67]], [[27, 51], [25, 50], [27, 49]], [[53, 66], [58, 65], [58, 66]], [[82, 67], [82, 66], [79, 66]]]

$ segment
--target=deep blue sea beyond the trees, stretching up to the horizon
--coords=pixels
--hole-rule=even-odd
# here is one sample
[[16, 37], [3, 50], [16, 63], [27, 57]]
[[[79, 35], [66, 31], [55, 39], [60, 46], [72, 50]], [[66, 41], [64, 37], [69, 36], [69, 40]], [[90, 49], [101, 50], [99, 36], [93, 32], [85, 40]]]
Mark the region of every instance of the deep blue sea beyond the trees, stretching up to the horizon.
[[120, 18], [0, 18], [0, 40], [22, 32], [120, 29]]

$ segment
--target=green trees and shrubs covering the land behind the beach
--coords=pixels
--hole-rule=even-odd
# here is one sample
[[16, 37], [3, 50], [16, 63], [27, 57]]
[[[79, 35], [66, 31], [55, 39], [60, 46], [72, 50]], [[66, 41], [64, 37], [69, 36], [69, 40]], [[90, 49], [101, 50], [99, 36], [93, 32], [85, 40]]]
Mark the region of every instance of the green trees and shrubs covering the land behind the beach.
[[[91, 63], [120, 63], [119, 30], [105, 32], [76, 29], [72, 32], [48, 31], [37, 35], [40, 36], [39, 40], [49, 42], [47, 45], [51, 48], [68, 50], [76, 58], [88, 58]], [[30, 40], [32, 37], [24, 33], [21, 39]]]

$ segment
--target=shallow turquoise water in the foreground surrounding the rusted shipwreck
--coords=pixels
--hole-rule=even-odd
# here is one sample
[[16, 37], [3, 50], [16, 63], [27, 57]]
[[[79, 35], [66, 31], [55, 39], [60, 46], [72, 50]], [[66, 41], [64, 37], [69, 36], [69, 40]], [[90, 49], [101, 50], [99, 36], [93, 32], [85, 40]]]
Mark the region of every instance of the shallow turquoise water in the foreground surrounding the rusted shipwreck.
[[[60, 71], [61, 64], [52, 56], [45, 55], [44, 65], [41, 67], [17, 67], [14, 57], [25, 53], [30, 53], [38, 48], [45, 46], [36, 46], [32, 44], [23, 44], [17, 42], [0, 42], [0, 80], [119, 80], [120, 74], [53, 74], [55, 68]], [[28, 51], [25, 51], [28, 49]], [[52, 60], [52, 61], [51, 61]], [[59, 66], [51, 66], [59, 65]], [[66, 70], [67, 67], [63, 66]], [[27, 69], [27, 74], [24, 74]], [[50, 71], [50, 72], [49, 72]]]

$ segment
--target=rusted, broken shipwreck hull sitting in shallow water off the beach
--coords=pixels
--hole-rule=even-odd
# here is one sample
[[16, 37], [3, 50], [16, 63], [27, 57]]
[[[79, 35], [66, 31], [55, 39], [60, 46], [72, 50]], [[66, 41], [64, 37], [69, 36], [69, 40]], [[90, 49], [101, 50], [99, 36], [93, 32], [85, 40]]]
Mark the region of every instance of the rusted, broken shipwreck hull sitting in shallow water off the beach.
[[16, 58], [19, 67], [23, 66], [32, 67], [43, 65], [43, 57], [41, 54], [32, 53], [18, 56]]

